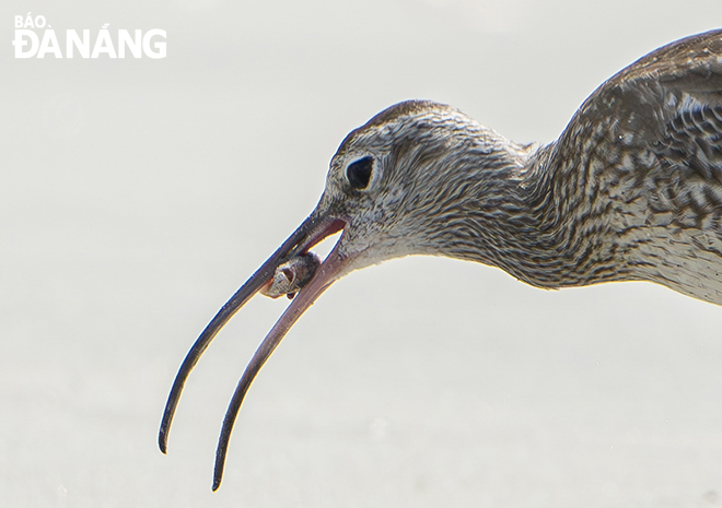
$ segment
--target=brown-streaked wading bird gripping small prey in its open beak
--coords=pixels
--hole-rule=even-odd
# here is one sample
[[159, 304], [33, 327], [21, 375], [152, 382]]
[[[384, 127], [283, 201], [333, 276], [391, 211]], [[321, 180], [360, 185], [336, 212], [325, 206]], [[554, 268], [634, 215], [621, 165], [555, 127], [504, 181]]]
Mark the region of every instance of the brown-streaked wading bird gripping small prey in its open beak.
[[[310, 249], [338, 232], [321, 262]], [[433, 101], [395, 104], [352, 130], [316, 208], [185, 357], [161, 451], [183, 387], [219, 330], [258, 292], [287, 294], [228, 407], [218, 489], [243, 399], [290, 328], [335, 281], [409, 255], [497, 267], [539, 288], [648, 281], [722, 305], [722, 29], [622, 69], [546, 145], [512, 142]]]

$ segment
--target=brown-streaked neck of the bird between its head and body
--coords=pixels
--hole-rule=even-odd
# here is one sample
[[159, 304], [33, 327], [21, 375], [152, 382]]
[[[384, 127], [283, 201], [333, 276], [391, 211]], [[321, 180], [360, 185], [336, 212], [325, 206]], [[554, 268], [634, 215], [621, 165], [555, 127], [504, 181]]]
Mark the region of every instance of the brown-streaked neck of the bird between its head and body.
[[498, 146], [491, 166], [484, 157], [486, 167], [467, 199], [446, 214], [438, 229], [446, 238], [436, 241], [443, 246], [436, 253], [494, 265], [547, 288], [622, 279], [610, 206], [602, 198], [584, 199], [582, 186], [570, 177], [575, 168], [555, 163], [554, 144], [523, 146], [501, 139]]

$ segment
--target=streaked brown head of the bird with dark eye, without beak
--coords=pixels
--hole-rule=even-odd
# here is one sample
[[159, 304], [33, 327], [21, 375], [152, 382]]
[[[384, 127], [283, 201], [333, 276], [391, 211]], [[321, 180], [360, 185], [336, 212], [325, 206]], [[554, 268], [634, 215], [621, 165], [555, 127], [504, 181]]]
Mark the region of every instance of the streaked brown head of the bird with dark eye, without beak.
[[[327, 258], [338, 263], [334, 280], [392, 258], [449, 253], [449, 221], [470, 200], [482, 209], [484, 189], [499, 179], [499, 170], [521, 169], [508, 146], [509, 141], [450, 106], [428, 101], [394, 105], [341, 142], [307, 220], [319, 236], [308, 238], [313, 243], [342, 228]], [[308, 243], [292, 253], [307, 248]]]

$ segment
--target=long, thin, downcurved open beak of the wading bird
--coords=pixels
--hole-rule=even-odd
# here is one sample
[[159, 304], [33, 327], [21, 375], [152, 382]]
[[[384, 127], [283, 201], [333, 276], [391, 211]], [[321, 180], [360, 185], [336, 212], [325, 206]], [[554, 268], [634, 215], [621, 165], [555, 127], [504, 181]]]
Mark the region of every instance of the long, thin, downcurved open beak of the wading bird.
[[[306, 218], [299, 228], [288, 237], [288, 239], [271, 255], [270, 258], [248, 279], [241, 288], [229, 299], [223, 307], [218, 311], [213, 319], [208, 323], [200, 336], [196, 340], [194, 345], [188, 351], [178, 374], [173, 381], [173, 388], [168, 394], [168, 400], [165, 403], [163, 412], [163, 420], [161, 421], [161, 428], [158, 436], [158, 444], [161, 451], [167, 451], [167, 439], [171, 430], [171, 424], [175, 410], [180, 399], [183, 387], [190, 375], [190, 371], [200, 359], [206, 348], [210, 345], [213, 338], [225, 326], [225, 323], [235, 315], [235, 312], [243, 307], [261, 287], [268, 284], [279, 264], [286, 262], [290, 258], [305, 253], [314, 245], [324, 238], [337, 233], [346, 226], [346, 221], [337, 217], [319, 216], [315, 212]], [[340, 241], [340, 239], [339, 239]], [[336, 247], [326, 257], [311, 281], [299, 292], [295, 298], [287, 307], [286, 311], [278, 319], [273, 328], [268, 332], [266, 339], [260, 344], [254, 354], [251, 363], [246, 366], [241, 380], [233, 393], [231, 403], [223, 420], [223, 427], [216, 451], [216, 468], [213, 471], [213, 491], [218, 489], [223, 476], [223, 464], [225, 463], [225, 452], [228, 450], [231, 432], [233, 424], [241, 409], [243, 399], [255, 379], [260, 367], [264, 366], [268, 357], [276, 350], [278, 344], [291, 329], [293, 323], [301, 317], [301, 315], [318, 298], [318, 296], [330, 286], [334, 281], [339, 279], [347, 271], [352, 257], [341, 256], [339, 253], [338, 243]]]

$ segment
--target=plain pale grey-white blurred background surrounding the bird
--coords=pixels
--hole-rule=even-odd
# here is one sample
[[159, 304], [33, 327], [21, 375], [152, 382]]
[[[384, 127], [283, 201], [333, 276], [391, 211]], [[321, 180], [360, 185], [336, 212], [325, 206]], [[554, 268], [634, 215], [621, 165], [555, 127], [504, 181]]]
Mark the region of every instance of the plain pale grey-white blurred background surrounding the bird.
[[[410, 258], [331, 287], [241, 411], [287, 300], [188, 347], [315, 205], [346, 133], [406, 98], [557, 138], [719, 0], [5, 1], [0, 506], [722, 506], [722, 308], [652, 284], [544, 292]], [[13, 58], [14, 15], [167, 31], [167, 58]], [[65, 40], [65, 36], [62, 37]]]

